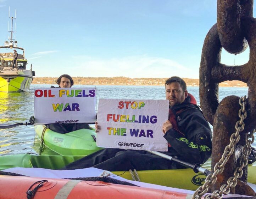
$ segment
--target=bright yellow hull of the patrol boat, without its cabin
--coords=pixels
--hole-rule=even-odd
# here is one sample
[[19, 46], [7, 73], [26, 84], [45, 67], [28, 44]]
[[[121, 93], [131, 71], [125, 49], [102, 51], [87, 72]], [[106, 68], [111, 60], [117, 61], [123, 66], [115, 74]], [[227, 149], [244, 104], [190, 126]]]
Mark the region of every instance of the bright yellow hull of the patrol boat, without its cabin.
[[[22, 71], [18, 74], [0, 74], [0, 92], [26, 92], [29, 91], [33, 81], [32, 72]], [[31, 75], [29, 74], [31, 73]]]

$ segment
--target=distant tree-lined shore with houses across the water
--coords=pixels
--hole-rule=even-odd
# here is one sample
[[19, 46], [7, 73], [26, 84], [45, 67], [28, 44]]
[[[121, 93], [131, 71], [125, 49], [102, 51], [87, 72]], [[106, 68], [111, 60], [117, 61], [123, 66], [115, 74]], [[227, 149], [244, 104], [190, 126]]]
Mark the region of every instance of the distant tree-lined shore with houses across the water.
[[[168, 78], [128, 78], [128, 77], [72, 77], [74, 84], [82, 85], [164, 85]], [[32, 84], [56, 84], [57, 77], [35, 77]], [[199, 86], [199, 79], [183, 78], [188, 86]], [[226, 81], [220, 86], [246, 87], [240, 81]]]

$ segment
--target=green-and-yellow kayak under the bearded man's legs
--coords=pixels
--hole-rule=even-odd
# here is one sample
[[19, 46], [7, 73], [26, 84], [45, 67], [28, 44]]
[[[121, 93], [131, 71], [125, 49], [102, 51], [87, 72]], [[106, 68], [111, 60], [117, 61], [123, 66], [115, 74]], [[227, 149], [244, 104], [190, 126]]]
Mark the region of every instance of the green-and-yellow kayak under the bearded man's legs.
[[[0, 156], [0, 170], [13, 167], [60, 169], [83, 156], [37, 156], [29, 154]], [[202, 167], [211, 169], [208, 160]], [[205, 182], [206, 175], [194, 173], [192, 169], [137, 171], [140, 181], [156, 185], [195, 190]], [[114, 171], [128, 180], [132, 180], [129, 171]], [[249, 165], [248, 182], [256, 184], [256, 162]]]

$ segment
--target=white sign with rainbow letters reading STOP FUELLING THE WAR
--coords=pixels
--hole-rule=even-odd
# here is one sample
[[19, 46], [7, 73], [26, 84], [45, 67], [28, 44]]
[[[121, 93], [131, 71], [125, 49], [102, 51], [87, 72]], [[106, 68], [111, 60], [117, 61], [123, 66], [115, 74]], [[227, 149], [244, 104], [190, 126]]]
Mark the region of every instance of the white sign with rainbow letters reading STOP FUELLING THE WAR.
[[100, 99], [97, 146], [167, 151], [162, 125], [168, 108], [168, 100]]

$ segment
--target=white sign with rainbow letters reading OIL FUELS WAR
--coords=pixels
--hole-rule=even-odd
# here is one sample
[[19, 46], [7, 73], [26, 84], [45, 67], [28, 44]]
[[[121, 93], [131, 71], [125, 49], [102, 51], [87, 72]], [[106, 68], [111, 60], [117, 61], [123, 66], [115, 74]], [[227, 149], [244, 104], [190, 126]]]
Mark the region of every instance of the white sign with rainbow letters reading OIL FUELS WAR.
[[95, 122], [96, 88], [49, 88], [34, 92], [35, 125]]

